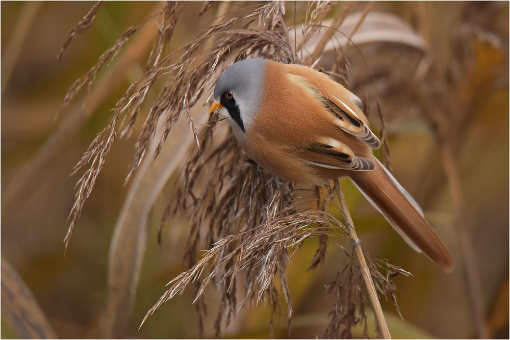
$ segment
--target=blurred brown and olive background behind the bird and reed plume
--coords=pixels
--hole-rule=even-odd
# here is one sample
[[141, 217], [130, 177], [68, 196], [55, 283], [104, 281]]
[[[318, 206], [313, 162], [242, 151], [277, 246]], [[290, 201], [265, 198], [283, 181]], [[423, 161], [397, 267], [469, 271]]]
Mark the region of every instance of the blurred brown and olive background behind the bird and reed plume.
[[[247, 6], [214, 3], [199, 17], [202, 5], [186, 4], [164, 54], [191, 41], [217, 13]], [[294, 16], [302, 21], [306, 5], [286, 3], [289, 26]], [[348, 181], [342, 182], [364, 249], [372, 258], [387, 258], [413, 273], [395, 278], [403, 319], [391, 300], [382, 301], [390, 332], [395, 338], [507, 338], [508, 3], [352, 3], [350, 13], [359, 16], [368, 5], [373, 15], [367, 16], [367, 25], [352, 39], [359, 46], [346, 51], [349, 88], [365, 98], [369, 84], [369, 118], [377, 132], [381, 127], [375, 109], [378, 96], [395, 177], [421, 204], [457, 264], [451, 274], [443, 273], [408, 247]], [[88, 95], [80, 94], [57, 116], [62, 100], [71, 84], [126, 28], [143, 22], [162, 4], [104, 4], [92, 27], [71, 42], [58, 65], [67, 33], [92, 6], [90, 2], [1, 4], [1, 335], [196, 337], [193, 288], [164, 304], [138, 330], [165, 284], [185, 270], [186, 221], [171, 221], [163, 229], [161, 244], [157, 234], [172, 184], [179, 178], [179, 165], [184, 163], [180, 160], [187, 155], [181, 143], [182, 134], [188, 133], [186, 124], [170, 136], [163, 160], [141, 169], [141, 175], [126, 185], [141, 124], [135, 126], [133, 137], [114, 144], [64, 256], [62, 240], [79, 178], [70, 173], [106, 126], [116, 101], [144, 73], [156, 23], [149, 21], [130, 38], [98, 73]], [[391, 20], [385, 15], [391, 15]], [[409, 31], [414, 42], [392, 41], [395, 31]], [[333, 52], [326, 46], [322, 62], [327, 63]], [[424, 76], [423, 69], [431, 71]], [[423, 81], [413, 83], [420, 76]], [[421, 87], [409, 94], [409, 84], [416, 83]], [[147, 102], [156, 94], [151, 91]], [[148, 103], [141, 114], [149, 110]], [[438, 115], [427, 115], [440, 106]], [[170, 175], [172, 180], [166, 181]], [[158, 182], [160, 178], [165, 180]], [[125, 273], [108, 272], [116, 226], [125, 226], [124, 233], [133, 238], [139, 229], [147, 228], [146, 248], [125, 257], [126, 268], [143, 261], [140, 272], [134, 274], [137, 278], [139, 274], [138, 284], [131, 291], [122, 285], [129, 281], [122, 279]], [[343, 256], [335, 245], [330, 241], [326, 264], [315, 271], [306, 269], [317, 240], [306, 242], [291, 261], [287, 279], [295, 309], [292, 337], [320, 337], [324, 332], [333, 304], [325, 296], [324, 285], [335, 279], [338, 259]], [[132, 250], [126, 247], [125, 252]], [[109, 291], [108, 275], [117, 279], [117, 290]], [[112, 294], [122, 289], [131, 298], [120, 294], [115, 300]], [[215, 295], [210, 287], [206, 337], [214, 336]], [[119, 308], [122, 303], [127, 303], [125, 308]], [[112, 313], [116, 313], [116, 327], [105, 322]], [[373, 331], [373, 317], [368, 314]], [[120, 331], [112, 330], [119, 327]], [[285, 312], [275, 327], [277, 337], [287, 336]], [[354, 334], [363, 333], [355, 330]], [[269, 309], [263, 303], [243, 309], [224, 336], [269, 337]]]

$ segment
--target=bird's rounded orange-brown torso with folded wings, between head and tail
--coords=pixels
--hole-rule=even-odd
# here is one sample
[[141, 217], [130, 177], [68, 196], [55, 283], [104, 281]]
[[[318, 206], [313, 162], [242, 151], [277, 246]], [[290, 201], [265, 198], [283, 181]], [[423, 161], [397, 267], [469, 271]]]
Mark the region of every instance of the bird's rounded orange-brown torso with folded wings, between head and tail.
[[[321, 88], [321, 83], [326, 84]], [[325, 87], [329, 87], [328, 92]], [[264, 168], [295, 183], [318, 185], [345, 176], [358, 158], [371, 158], [372, 151], [339, 126], [350, 124], [347, 119], [337, 118], [318, 98], [337, 97], [358, 111], [363, 126], [367, 126], [354, 103], [357, 98], [344, 93], [350, 94], [311, 68], [268, 61], [264, 101], [242, 141], [246, 152]], [[356, 128], [352, 124], [348, 127]]]

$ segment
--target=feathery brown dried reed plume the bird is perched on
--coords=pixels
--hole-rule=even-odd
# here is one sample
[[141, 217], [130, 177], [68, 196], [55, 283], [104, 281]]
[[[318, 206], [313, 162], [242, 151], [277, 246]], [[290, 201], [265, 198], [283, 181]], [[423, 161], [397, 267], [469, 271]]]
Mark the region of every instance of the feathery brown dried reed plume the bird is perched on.
[[[207, 12], [211, 5], [211, 2], [206, 2], [199, 15]], [[184, 178], [177, 183], [177, 194], [168, 205], [164, 219], [176, 214], [189, 219], [191, 229], [184, 258], [189, 269], [170, 281], [170, 289], [147, 312], [144, 321], [162, 303], [194, 284], [199, 332], [202, 334], [203, 318], [207, 313], [203, 292], [208, 284], [214, 282], [221, 293], [215, 322], [216, 336], [220, 336], [223, 323], [230, 323], [238, 305], [253, 305], [261, 300], [266, 301], [271, 308], [272, 330], [273, 318], [281, 299], [277, 290], [279, 282], [287, 305], [290, 331], [293, 307], [285, 272], [292, 254], [306, 239], [318, 237], [319, 248], [309, 268], [314, 269], [324, 261], [328, 237], [338, 237], [346, 240], [349, 246], [345, 250], [344, 269], [339, 272], [335, 283], [328, 286], [328, 292], [336, 294], [337, 302], [330, 313], [330, 323], [324, 336], [350, 336], [352, 326], [359, 322], [365, 322], [366, 325], [360, 283], [363, 275], [357, 266], [358, 261], [362, 261], [360, 256], [363, 262], [365, 257], [367, 258], [364, 267], [373, 280], [373, 291], [390, 295], [393, 301], [395, 286], [391, 278], [397, 273], [409, 273], [384, 262], [371, 261], [367, 254], [361, 251], [357, 237], [352, 237], [352, 223], [348, 222], [349, 227], [346, 227], [326, 212], [326, 207], [340, 198], [338, 181], [315, 191], [296, 188], [248, 160], [230, 130], [226, 134], [220, 134], [216, 124], [217, 116], [211, 116], [209, 123], [198, 129], [191, 115], [191, 110], [197, 104], [205, 104], [210, 100], [212, 86], [221, 71], [238, 60], [264, 57], [282, 63], [307, 63], [318, 68], [318, 59], [325, 44], [319, 44], [322, 47], [317, 47], [311, 55], [310, 51], [305, 50], [304, 44], [314, 32], [321, 29], [326, 31], [324, 36], [329, 37], [334, 44], [337, 43], [328, 28], [320, 23], [334, 8], [334, 3], [308, 4], [307, 16], [301, 25], [300, 42], [293, 40], [293, 30], [286, 27], [285, 4], [271, 2], [229, 12], [219, 23], [212, 25], [195, 40], [168, 55], [163, 55], [163, 47], [171, 39], [184, 6], [179, 2], [169, 2], [156, 15], [155, 20], [159, 20], [160, 32], [148, 57], [146, 73], [117, 101], [108, 125], [92, 141], [74, 168], [74, 172], [78, 172], [88, 166], [77, 184], [75, 203], [70, 214], [71, 222], [65, 238], [66, 247], [83, 204], [117, 134], [124, 136], [132, 132], [148, 91], [156, 80], [165, 79], [166, 82], [145, 117], [126, 181], [147, 156], [148, 144], [155, 138], [156, 126], [163, 125], [164, 131], [156, 151], [149, 155], [152, 158], [158, 156], [172, 126], [184, 114], [198, 147], [184, 166]], [[90, 27], [98, 7], [99, 4], [95, 5], [84, 20], [71, 30], [64, 48], [74, 35]], [[337, 14], [339, 19], [335, 21], [336, 28], [333, 28], [333, 31], [342, 23], [349, 8], [350, 6], [344, 7]], [[360, 23], [367, 12], [368, 8]], [[122, 34], [89, 73], [69, 89], [63, 105], [85, 84], [90, 86], [99, 69], [115, 56], [139, 27], [140, 25], [130, 28]], [[359, 24], [355, 30], [358, 27]], [[207, 44], [212, 39], [215, 43]], [[338, 56], [335, 66], [326, 71], [345, 84], [349, 65], [338, 44], [336, 49]], [[383, 140], [384, 137], [383, 135]], [[314, 204], [316, 208], [311, 210]], [[343, 208], [345, 210], [346, 206]], [[198, 256], [198, 247], [202, 241], [206, 242], [209, 250]], [[236, 291], [239, 289], [240, 275], [244, 276], [244, 299], [238, 304]], [[365, 283], [368, 284], [367, 281]], [[370, 290], [370, 287], [368, 289]], [[373, 298], [377, 300], [376, 296], [370, 296], [370, 299]], [[376, 309], [373, 301], [371, 302]], [[384, 329], [381, 331], [383, 335], [389, 336], [384, 334]]]

